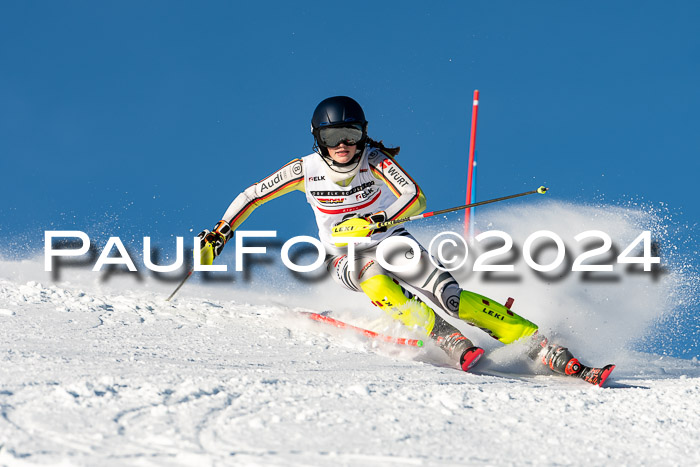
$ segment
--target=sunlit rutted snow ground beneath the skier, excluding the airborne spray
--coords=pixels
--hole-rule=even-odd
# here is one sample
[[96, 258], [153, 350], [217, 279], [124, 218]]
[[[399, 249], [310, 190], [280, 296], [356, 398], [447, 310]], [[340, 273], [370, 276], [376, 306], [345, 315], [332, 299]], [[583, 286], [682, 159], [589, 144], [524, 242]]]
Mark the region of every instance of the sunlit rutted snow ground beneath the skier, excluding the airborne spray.
[[629, 353], [603, 389], [494, 376], [527, 368], [498, 350], [466, 374], [207, 294], [0, 279], [0, 465], [700, 463], [697, 360]]

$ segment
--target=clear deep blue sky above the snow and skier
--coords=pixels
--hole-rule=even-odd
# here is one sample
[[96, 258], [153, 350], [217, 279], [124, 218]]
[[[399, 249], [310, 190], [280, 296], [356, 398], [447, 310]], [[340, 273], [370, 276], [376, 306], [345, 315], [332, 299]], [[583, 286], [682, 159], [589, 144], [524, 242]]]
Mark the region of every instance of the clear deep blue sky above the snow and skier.
[[[211, 228], [311, 152], [311, 113], [339, 94], [401, 145], [429, 209], [462, 204], [476, 88], [479, 199], [547, 184], [693, 225], [699, 24], [695, 1], [2, 2], [2, 250]], [[246, 228], [314, 222], [298, 193]]]

